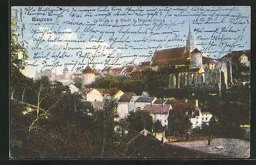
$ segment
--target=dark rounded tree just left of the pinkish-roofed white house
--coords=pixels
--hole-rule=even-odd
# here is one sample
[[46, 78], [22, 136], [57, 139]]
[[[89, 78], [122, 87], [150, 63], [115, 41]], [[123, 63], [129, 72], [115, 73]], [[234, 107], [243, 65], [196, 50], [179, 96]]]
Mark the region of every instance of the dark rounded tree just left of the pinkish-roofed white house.
[[145, 119], [145, 129], [152, 132], [153, 120], [150, 114], [137, 110], [136, 112], [129, 112], [126, 121], [130, 123], [129, 128], [140, 132], [143, 130], [143, 119]]

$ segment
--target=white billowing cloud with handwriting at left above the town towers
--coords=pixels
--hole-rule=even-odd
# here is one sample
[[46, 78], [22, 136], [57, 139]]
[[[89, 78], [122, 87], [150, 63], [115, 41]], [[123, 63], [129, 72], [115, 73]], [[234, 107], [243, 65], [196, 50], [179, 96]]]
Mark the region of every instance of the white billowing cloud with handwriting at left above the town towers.
[[[34, 53], [37, 52], [37, 56], [46, 56], [47, 53], [50, 51], [50, 58], [48, 61], [53, 61], [55, 58], [52, 58], [52, 55], [56, 55], [57, 53], [61, 52], [61, 54], [64, 51], [67, 51], [68, 55], [72, 55], [71, 57], [66, 57], [65, 59], [59, 59], [62, 64], [66, 62], [71, 62], [71, 61], [82, 61], [82, 58], [79, 59], [77, 56], [77, 52], [81, 51], [82, 56], [86, 53], [90, 53], [90, 58], [91, 60], [93, 59], [94, 62], [100, 63], [104, 62], [105, 59], [108, 57], [110, 53], [115, 50], [115, 54], [121, 53], [119, 49], [110, 49], [110, 44], [103, 41], [99, 40], [99, 42], [89, 42], [89, 38], [87, 42], [81, 42], [81, 40], [77, 37], [77, 34], [73, 32], [72, 29], [64, 29], [63, 31], [60, 32], [60, 34], [56, 34], [53, 31], [51, 31], [49, 28], [43, 28], [40, 27], [37, 30], [34, 31], [35, 33], [32, 34], [33, 38], [28, 41], [30, 44], [30, 47], [35, 47], [37, 46], [39, 50], [29, 50], [29, 64], [33, 64], [36, 60], [37, 63], [39, 64], [37, 67], [31, 67], [27, 66], [26, 69], [24, 70], [24, 74], [29, 76], [29, 77], [34, 77], [35, 76], [35, 71], [40, 70], [44, 65], [41, 64], [42, 60], [34, 60], [33, 56]], [[48, 42], [48, 40], [52, 40], [52, 42]], [[55, 40], [55, 41], [54, 41]], [[40, 42], [43, 41], [43, 42]], [[62, 41], [62, 42], [61, 42]], [[66, 42], [63, 42], [66, 41]], [[68, 41], [76, 41], [76, 42], [68, 42]], [[46, 48], [46, 49], [45, 49]], [[56, 48], [60, 48], [59, 50], [55, 51]], [[81, 48], [81, 49], [80, 49]], [[49, 50], [50, 49], [50, 50]], [[46, 50], [46, 51], [44, 51]], [[61, 55], [60, 54], [60, 55]], [[87, 63], [84, 61], [83, 63]], [[68, 66], [68, 69], [71, 70], [73, 66]], [[84, 66], [86, 67], [86, 66]], [[103, 64], [96, 65], [98, 69], [103, 69], [104, 66]], [[44, 69], [51, 69], [51, 68], [44, 68]], [[63, 69], [58, 68], [57, 74], [61, 74]]]

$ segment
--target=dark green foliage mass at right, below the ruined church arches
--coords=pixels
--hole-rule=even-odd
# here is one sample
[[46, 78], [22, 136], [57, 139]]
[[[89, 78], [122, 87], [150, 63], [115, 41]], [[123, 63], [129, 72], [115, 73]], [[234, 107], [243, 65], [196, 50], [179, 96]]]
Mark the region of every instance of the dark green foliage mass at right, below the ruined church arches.
[[219, 137], [244, 138], [239, 126], [250, 124], [250, 88], [233, 86], [221, 97], [200, 100], [201, 111], [213, 114], [209, 125], [202, 124], [200, 133]]

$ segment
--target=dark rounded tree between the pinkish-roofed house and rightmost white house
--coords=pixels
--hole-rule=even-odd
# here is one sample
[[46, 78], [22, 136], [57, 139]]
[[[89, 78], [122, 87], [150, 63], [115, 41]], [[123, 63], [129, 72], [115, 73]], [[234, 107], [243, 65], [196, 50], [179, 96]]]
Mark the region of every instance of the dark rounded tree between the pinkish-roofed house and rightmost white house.
[[170, 133], [182, 134], [190, 132], [192, 123], [188, 116], [185, 116], [181, 111], [168, 117], [168, 128]]

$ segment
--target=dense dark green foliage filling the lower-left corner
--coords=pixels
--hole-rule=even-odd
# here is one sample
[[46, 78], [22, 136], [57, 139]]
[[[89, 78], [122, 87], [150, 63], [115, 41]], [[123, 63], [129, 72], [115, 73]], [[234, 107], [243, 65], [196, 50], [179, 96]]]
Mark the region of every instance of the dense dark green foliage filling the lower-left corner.
[[[118, 117], [114, 98], [104, 99], [103, 109], [95, 110], [90, 102], [82, 102], [67, 86], [42, 77], [34, 82], [34, 93], [41, 86], [39, 115], [50, 109], [44, 118], [34, 120], [36, 106], [11, 101], [11, 155], [20, 158], [125, 158], [129, 146]], [[51, 95], [49, 95], [51, 93]], [[56, 103], [56, 100], [59, 100]], [[56, 106], [52, 107], [52, 103]], [[27, 107], [32, 110], [28, 111]], [[51, 108], [52, 107], [52, 108]], [[26, 111], [27, 113], [22, 113]], [[90, 116], [89, 113], [92, 115]], [[31, 131], [29, 127], [31, 123]], [[115, 129], [117, 128], [117, 129]], [[120, 129], [122, 130], [120, 133]], [[103, 141], [104, 140], [104, 141]], [[104, 146], [104, 147], [103, 147]]]

